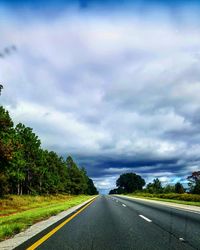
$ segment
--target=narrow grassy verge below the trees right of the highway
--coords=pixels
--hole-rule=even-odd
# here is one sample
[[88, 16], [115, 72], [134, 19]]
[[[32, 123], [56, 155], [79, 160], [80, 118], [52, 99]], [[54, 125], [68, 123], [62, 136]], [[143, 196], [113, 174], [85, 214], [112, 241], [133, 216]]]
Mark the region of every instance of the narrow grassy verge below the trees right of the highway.
[[[185, 196], [186, 194], [184, 194]], [[183, 205], [191, 205], [191, 206], [198, 206], [200, 207], [200, 201], [191, 201], [191, 200], [183, 200], [183, 196], [182, 195], [176, 195], [173, 196], [174, 198], [169, 198], [172, 196], [166, 195], [166, 196], [162, 196], [159, 197], [159, 194], [143, 194], [143, 193], [136, 193], [136, 194], [126, 194], [126, 196], [130, 196], [130, 197], [135, 197], [135, 198], [142, 198], [142, 199], [147, 199], [147, 200], [156, 200], [156, 201], [164, 201], [164, 202], [171, 202], [171, 203], [176, 203], [176, 204], [183, 204]], [[185, 199], [190, 199], [190, 197], [185, 196]], [[197, 200], [200, 200], [200, 195], [197, 196]], [[192, 199], [192, 197], [191, 197]]]

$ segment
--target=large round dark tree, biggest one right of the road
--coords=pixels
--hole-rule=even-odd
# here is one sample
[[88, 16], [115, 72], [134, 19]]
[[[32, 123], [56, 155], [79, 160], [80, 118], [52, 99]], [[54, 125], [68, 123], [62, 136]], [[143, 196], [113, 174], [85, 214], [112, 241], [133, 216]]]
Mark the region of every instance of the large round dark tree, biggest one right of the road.
[[126, 173], [120, 175], [116, 181], [118, 188], [123, 190], [123, 193], [132, 193], [137, 190], [142, 190], [142, 187], [145, 185], [144, 179], [135, 173]]

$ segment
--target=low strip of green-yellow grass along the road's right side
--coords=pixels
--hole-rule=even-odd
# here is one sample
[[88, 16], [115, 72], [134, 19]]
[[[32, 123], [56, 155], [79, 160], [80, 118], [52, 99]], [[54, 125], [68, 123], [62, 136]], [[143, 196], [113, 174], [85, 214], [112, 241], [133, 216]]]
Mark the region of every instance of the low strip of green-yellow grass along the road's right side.
[[144, 198], [148, 200], [157, 200], [172, 202], [177, 204], [200, 206], [200, 195], [194, 194], [149, 194], [149, 193], [133, 193], [127, 194], [130, 197]]

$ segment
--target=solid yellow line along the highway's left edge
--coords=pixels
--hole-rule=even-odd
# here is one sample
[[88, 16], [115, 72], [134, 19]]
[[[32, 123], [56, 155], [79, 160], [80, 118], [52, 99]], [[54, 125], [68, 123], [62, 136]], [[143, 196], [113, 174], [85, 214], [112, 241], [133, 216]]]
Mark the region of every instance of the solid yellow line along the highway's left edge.
[[88, 207], [92, 202], [94, 202], [95, 199], [96, 199], [96, 197], [92, 201], [90, 201], [89, 203], [87, 203], [84, 207], [82, 207], [80, 210], [78, 210], [75, 214], [73, 214], [68, 219], [66, 219], [61, 224], [59, 224], [57, 227], [55, 227], [53, 230], [51, 230], [48, 234], [44, 235], [41, 239], [39, 239], [38, 241], [36, 241], [30, 247], [28, 247], [27, 250], [34, 250], [34, 249], [36, 249], [36, 247], [40, 246], [43, 242], [45, 242], [48, 238], [50, 238], [53, 234], [55, 234], [61, 227], [63, 227], [64, 225], [66, 225], [70, 220], [72, 220], [75, 216], [77, 216], [84, 209], [86, 209], [86, 207]]

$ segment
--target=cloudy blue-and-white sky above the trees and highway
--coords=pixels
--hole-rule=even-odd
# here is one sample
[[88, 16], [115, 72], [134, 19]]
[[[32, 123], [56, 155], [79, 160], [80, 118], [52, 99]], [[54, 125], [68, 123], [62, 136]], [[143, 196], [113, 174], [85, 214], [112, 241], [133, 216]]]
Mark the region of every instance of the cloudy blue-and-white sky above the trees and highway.
[[[0, 102], [102, 192], [200, 164], [198, 1], [1, 1]], [[6, 53], [5, 48], [15, 45]]]

